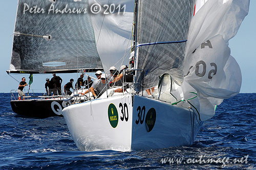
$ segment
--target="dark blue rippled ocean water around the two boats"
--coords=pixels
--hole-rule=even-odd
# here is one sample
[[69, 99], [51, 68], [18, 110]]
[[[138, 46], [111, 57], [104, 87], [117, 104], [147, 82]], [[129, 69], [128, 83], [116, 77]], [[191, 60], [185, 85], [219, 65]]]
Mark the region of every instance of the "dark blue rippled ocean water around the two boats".
[[78, 151], [63, 117], [18, 116], [10, 100], [0, 93], [0, 169], [256, 169], [256, 93], [224, 100], [193, 145], [132, 152]]

